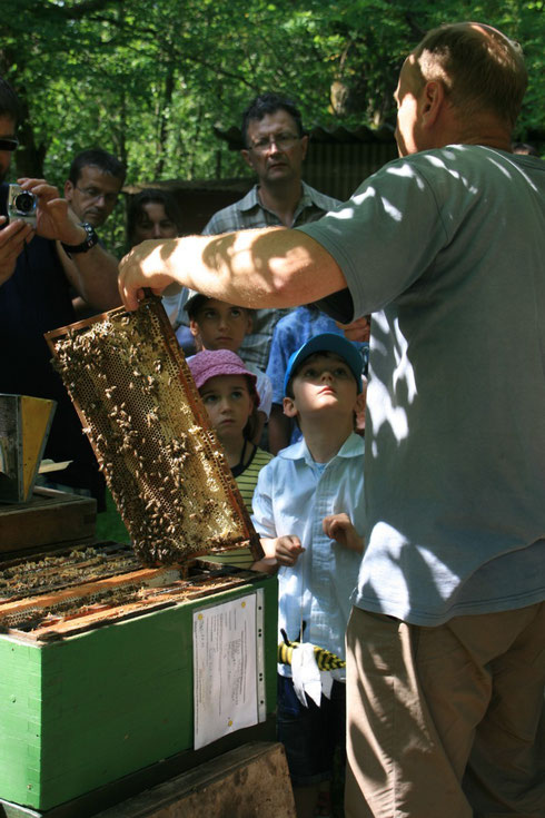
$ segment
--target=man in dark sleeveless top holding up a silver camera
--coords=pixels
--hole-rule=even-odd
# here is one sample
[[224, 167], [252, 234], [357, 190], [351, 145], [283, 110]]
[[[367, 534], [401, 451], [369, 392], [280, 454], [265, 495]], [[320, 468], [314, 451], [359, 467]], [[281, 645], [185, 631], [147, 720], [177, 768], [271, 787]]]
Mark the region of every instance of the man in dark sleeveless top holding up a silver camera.
[[[18, 145], [18, 98], [0, 78], [2, 181]], [[0, 392], [57, 401], [46, 456], [71, 461], [61, 482], [86, 490], [100, 505], [103, 482], [73, 406], [51, 367], [43, 333], [76, 319], [71, 287], [97, 312], [120, 303], [116, 259], [98, 244], [93, 227], [80, 223], [69, 209], [56, 187], [43, 179], [19, 181], [21, 190], [10, 197], [11, 215], [7, 207], [9, 187], [0, 186], [0, 344], [6, 351]], [[32, 194], [36, 203], [29, 205], [24, 191]]]

